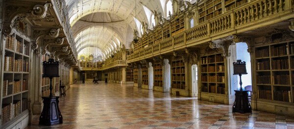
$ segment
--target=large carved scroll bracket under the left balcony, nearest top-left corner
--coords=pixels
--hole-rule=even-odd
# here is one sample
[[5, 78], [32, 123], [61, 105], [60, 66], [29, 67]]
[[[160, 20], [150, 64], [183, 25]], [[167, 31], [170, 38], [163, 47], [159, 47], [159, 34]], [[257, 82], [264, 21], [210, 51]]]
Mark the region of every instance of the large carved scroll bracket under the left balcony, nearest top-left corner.
[[51, 7], [51, 3], [47, 2], [44, 5], [36, 4], [31, 11], [32, 19], [43, 19], [47, 14], [48, 7]]

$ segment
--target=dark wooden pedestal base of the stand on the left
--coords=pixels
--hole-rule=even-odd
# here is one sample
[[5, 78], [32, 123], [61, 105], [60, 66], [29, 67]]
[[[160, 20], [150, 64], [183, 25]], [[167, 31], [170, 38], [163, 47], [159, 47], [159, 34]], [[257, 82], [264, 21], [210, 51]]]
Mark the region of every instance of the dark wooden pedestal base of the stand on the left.
[[63, 123], [63, 118], [58, 106], [59, 97], [42, 97], [44, 107], [40, 116], [39, 125], [52, 126]]

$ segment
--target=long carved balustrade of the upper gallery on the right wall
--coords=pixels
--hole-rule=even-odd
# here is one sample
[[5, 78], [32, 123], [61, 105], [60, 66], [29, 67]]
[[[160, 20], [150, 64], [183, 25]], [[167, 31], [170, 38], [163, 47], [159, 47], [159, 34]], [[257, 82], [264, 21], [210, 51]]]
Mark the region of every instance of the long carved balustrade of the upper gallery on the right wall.
[[218, 35], [218, 38], [227, 37], [236, 32], [237, 29], [239, 32], [245, 32], [248, 31], [249, 27], [249, 30], [255, 29], [252, 27], [253, 25], [258, 24], [259, 27], [268, 26], [267, 24], [262, 25], [262, 23], [268, 23], [272, 19], [275, 19], [274, 23], [282, 22], [294, 18], [293, 11], [294, 0], [251, 0], [251, 2], [241, 7], [236, 7], [218, 17], [153, 44], [148, 48], [135, 51], [127, 56], [127, 62], [139, 61], [149, 55], [156, 56], [176, 51], [186, 45], [193, 46], [205, 43], [216, 35]]

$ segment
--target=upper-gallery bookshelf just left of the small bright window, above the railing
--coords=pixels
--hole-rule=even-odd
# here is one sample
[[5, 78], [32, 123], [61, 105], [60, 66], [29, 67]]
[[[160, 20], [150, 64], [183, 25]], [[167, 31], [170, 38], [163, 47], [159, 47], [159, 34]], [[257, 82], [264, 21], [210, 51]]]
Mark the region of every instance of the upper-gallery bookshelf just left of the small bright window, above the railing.
[[178, 18], [175, 18], [171, 22], [171, 33], [172, 36], [182, 32], [185, 30], [184, 26], [184, 15], [179, 16]]

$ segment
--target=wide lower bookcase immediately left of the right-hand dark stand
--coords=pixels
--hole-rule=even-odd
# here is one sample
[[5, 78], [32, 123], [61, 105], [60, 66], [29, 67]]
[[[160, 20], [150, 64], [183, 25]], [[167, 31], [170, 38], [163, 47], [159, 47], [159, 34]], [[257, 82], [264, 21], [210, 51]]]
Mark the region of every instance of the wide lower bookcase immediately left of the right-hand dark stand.
[[224, 58], [219, 54], [201, 56], [201, 92], [225, 94]]

